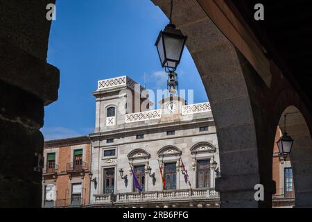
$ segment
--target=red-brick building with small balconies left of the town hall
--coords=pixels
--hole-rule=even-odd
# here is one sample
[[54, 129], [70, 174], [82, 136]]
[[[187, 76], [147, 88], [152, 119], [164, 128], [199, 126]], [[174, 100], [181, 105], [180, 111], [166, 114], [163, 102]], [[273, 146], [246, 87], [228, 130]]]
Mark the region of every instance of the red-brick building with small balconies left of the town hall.
[[89, 203], [89, 137], [44, 143], [42, 207], [79, 207]]

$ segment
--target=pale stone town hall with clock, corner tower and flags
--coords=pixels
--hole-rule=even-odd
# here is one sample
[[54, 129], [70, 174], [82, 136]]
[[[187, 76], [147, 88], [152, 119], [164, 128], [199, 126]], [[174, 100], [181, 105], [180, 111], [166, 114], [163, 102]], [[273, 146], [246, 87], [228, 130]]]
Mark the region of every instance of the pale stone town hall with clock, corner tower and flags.
[[[168, 96], [159, 110], [148, 110], [137, 99], [139, 112], [132, 112], [142, 96], [131, 94], [144, 93], [134, 85], [121, 76], [99, 81], [94, 92], [96, 129], [89, 137], [97, 184], [91, 186], [90, 205], [218, 207], [218, 139], [209, 103], [187, 105]], [[143, 191], [135, 187], [132, 170]]]

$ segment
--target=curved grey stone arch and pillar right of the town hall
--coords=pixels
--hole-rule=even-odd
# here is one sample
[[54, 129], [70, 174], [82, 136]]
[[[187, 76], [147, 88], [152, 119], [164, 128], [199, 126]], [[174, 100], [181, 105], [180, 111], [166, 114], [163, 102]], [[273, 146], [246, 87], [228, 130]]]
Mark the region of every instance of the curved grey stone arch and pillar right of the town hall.
[[[152, 1], [168, 16], [169, 0]], [[188, 35], [187, 48], [209, 95], [220, 150], [221, 176], [216, 179], [220, 207], [270, 207], [272, 153], [269, 155], [266, 151], [263, 155], [266, 148], [258, 148], [256, 129], [259, 126], [254, 121], [245, 82], [245, 72], [250, 70], [244, 69], [243, 56], [196, 0], [175, 1], [173, 23]], [[263, 164], [259, 164], [259, 160]], [[264, 162], [271, 162], [271, 167], [261, 171]], [[270, 180], [263, 180], [269, 171]], [[254, 200], [254, 185], [261, 182], [266, 189], [266, 198], [259, 203]]]

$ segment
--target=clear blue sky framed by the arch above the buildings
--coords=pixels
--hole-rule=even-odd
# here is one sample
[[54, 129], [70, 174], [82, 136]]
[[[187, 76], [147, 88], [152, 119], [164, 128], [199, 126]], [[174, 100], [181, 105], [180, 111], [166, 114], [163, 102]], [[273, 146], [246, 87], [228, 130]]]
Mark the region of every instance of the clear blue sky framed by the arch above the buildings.
[[[148, 0], [58, 0], [48, 62], [60, 69], [59, 99], [45, 108], [46, 140], [92, 133], [98, 80], [130, 76], [148, 89], [166, 89], [154, 46], [168, 19]], [[187, 49], [177, 69], [180, 89], [207, 94]]]

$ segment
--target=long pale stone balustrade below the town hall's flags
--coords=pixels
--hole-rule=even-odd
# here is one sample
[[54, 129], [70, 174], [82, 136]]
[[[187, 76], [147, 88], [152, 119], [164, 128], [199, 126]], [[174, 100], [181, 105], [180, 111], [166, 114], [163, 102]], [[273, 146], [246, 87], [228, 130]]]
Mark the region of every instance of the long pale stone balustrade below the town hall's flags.
[[111, 203], [111, 202], [132, 202], [145, 200], [189, 200], [189, 199], [218, 199], [219, 194], [211, 188], [197, 189], [177, 189], [164, 191], [146, 191], [132, 192], [123, 194], [99, 194], [94, 195], [96, 203]]

